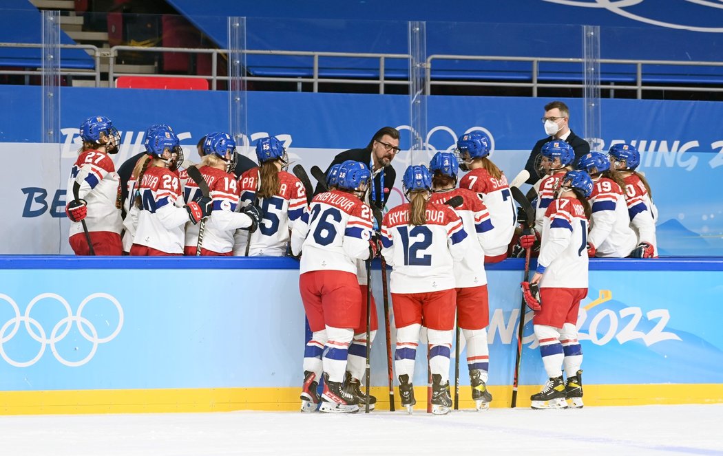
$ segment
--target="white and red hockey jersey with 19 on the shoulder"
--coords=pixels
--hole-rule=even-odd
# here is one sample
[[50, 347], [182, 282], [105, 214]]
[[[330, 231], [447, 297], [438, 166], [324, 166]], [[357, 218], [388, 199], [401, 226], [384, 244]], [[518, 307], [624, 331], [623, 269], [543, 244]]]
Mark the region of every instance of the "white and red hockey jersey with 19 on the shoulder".
[[628, 257], [638, 236], [630, 228], [623, 189], [611, 178], [601, 177], [595, 181], [588, 200], [592, 205], [588, 242], [595, 246], [595, 256]]

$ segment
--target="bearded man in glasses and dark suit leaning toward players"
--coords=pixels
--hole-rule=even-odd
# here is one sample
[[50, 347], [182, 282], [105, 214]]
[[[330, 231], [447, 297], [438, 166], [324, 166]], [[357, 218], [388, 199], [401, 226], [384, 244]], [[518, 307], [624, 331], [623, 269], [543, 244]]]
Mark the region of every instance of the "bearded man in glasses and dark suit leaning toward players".
[[[367, 201], [369, 205], [375, 205], [380, 210], [384, 208], [389, 199], [390, 192], [394, 186], [397, 174], [391, 163], [399, 153], [399, 132], [391, 126], [379, 129], [367, 147], [363, 149], [350, 149], [339, 153], [334, 157], [326, 169], [328, 176], [331, 167], [337, 163], [344, 163], [346, 160], [354, 160], [367, 165], [372, 170], [372, 185], [369, 186]], [[317, 185], [314, 194], [322, 192], [321, 186]]]

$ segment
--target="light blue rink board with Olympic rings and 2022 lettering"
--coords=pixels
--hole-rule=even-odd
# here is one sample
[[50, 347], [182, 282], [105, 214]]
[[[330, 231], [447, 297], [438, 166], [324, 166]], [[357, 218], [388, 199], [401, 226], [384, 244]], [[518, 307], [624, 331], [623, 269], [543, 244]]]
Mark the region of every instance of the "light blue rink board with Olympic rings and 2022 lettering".
[[[492, 385], [512, 382], [522, 265], [489, 267]], [[0, 257], [0, 390], [296, 387], [296, 267], [288, 258]], [[381, 317], [378, 270], [372, 279]], [[721, 258], [593, 260], [578, 320], [586, 382], [723, 383], [722, 284]], [[529, 323], [523, 342], [521, 384], [541, 384]], [[375, 386], [386, 384], [384, 352], [380, 331]], [[418, 362], [416, 384], [424, 370]]]

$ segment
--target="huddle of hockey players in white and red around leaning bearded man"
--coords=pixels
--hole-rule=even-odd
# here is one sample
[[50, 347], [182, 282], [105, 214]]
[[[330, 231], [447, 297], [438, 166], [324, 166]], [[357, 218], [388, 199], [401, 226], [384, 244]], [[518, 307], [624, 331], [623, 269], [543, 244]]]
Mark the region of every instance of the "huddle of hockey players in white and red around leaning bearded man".
[[239, 171], [239, 157], [251, 160], [236, 152], [229, 134], [208, 134], [199, 145], [201, 163], [192, 165], [171, 127], [155, 125], [146, 151], [129, 160], [127, 178], [110, 157], [120, 137], [109, 119], [87, 119], [80, 137], [66, 210], [76, 254], [299, 258], [299, 291], [312, 330], [304, 349], [304, 412], [374, 408], [376, 398], [361, 384], [377, 332], [368, 289], [375, 257], [391, 267], [401, 403], [410, 412], [416, 403], [412, 377], [424, 327], [431, 410], [446, 414], [453, 405], [455, 326], [466, 340], [476, 408], [486, 410], [492, 401], [485, 263], [521, 252], [538, 257], [533, 277], [523, 282], [523, 298], [534, 310], [549, 381], [531, 397], [532, 407], [579, 408], [576, 322], [589, 257], [657, 256], [656, 210], [649, 184], [635, 171], [640, 155], [632, 145], [615, 145], [608, 155], [589, 152], [573, 163], [567, 142], [547, 142], [537, 167], [539, 190], [531, 202], [520, 202], [531, 205], [534, 220], [523, 220], [529, 216], [515, 205], [511, 190], [517, 189], [490, 160], [482, 132], [464, 134], [454, 153], [437, 152], [430, 163], [409, 166], [402, 178], [408, 202], [391, 208], [390, 161], [399, 152], [399, 134], [390, 127], [366, 148], [337, 155], [313, 199], [309, 183], [286, 171], [288, 156], [275, 137], [260, 139], [258, 164]]

